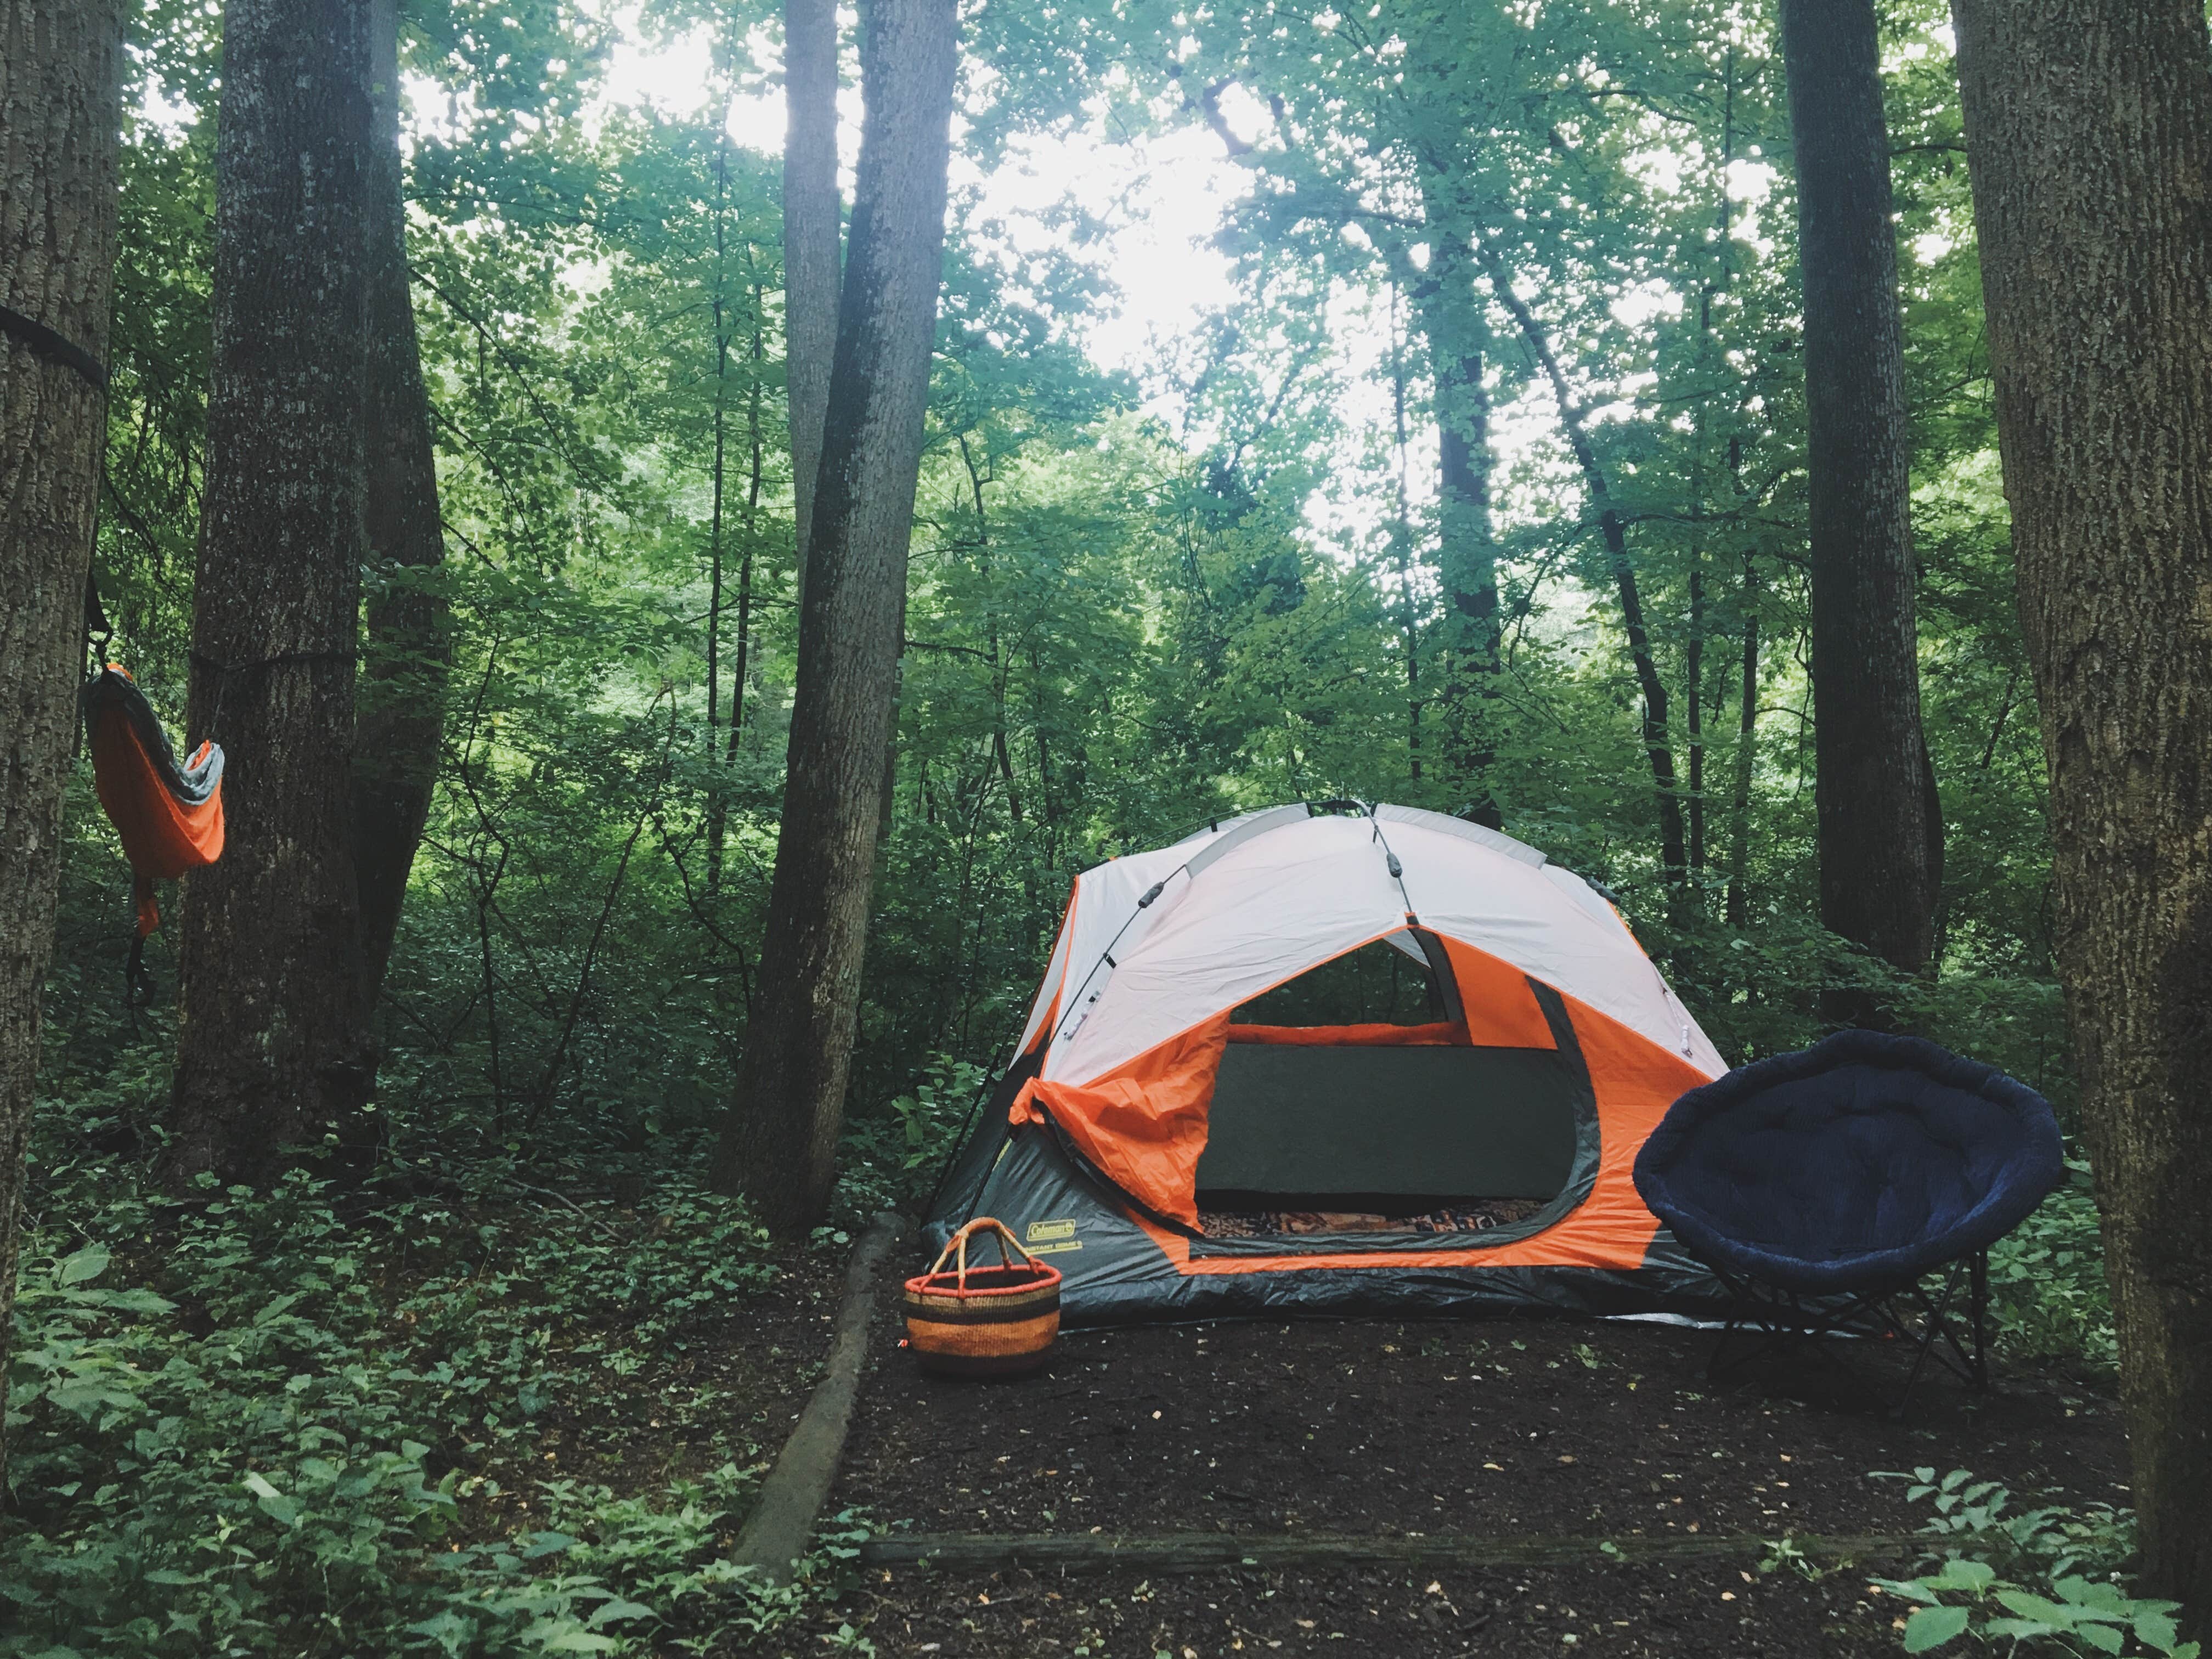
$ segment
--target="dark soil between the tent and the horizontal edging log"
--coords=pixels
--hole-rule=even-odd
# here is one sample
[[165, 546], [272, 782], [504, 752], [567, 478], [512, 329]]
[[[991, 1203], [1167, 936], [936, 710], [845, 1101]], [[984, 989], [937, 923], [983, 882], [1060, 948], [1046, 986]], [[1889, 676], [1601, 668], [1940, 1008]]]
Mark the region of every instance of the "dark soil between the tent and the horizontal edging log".
[[883, 1305], [832, 1495], [878, 1526], [1851, 1535], [1920, 1524], [1902, 1482], [1869, 1480], [1916, 1464], [2128, 1502], [2110, 1400], [2000, 1369], [1991, 1394], [1922, 1378], [1893, 1420], [1843, 1369], [1893, 1389], [1876, 1343], [1717, 1387], [1714, 1334], [1674, 1325], [1155, 1325], [1062, 1336], [1048, 1371], [978, 1385], [925, 1376]]

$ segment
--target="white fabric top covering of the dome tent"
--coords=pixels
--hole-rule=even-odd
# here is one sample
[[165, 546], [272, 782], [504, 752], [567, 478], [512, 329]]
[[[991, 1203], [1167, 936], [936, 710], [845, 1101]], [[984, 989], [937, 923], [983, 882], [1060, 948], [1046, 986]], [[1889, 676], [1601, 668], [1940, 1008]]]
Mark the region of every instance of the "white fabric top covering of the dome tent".
[[[1376, 807], [1374, 818], [1301, 812], [1239, 821], [1243, 838], [1197, 876], [1179, 872], [1230, 823], [1084, 872], [1062, 927], [1066, 949], [1053, 951], [1024, 1033], [1026, 1048], [1066, 987], [1046, 1079], [1095, 1082], [1210, 1015], [1398, 933], [1407, 911], [1708, 1075], [1728, 1068], [1613, 907], [1535, 849], [1416, 807]], [[1276, 821], [1261, 825], [1263, 816]], [[1161, 896], [1139, 909], [1155, 883], [1166, 883]]]

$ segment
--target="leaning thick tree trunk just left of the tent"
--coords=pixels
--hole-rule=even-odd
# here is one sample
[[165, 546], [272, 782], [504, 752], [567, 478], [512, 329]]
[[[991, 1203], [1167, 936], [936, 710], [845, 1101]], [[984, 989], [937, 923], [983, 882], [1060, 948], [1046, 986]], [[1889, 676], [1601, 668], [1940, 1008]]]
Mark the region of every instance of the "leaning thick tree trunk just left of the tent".
[[945, 254], [958, 11], [876, 0], [860, 170], [814, 502], [790, 779], [719, 1179], [781, 1230], [836, 1177]]

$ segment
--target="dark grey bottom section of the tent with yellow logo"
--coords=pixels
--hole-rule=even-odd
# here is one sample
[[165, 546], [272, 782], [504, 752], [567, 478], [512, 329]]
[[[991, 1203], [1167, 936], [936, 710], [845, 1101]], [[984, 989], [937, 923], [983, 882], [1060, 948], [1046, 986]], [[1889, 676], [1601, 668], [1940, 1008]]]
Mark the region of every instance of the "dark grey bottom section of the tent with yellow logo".
[[[1020, 1068], [1018, 1068], [1020, 1071]], [[1009, 1073], [1013, 1079], [1015, 1073]], [[1436, 1318], [1498, 1314], [1674, 1314], [1728, 1316], [1725, 1285], [1661, 1228], [1644, 1263], [1601, 1267], [1484, 1267], [1482, 1234], [1400, 1234], [1376, 1239], [1374, 1267], [1292, 1267], [1283, 1272], [1181, 1274], [1124, 1203], [1068, 1157], [1048, 1128], [1006, 1126], [1015, 1079], [984, 1106], [980, 1133], [947, 1175], [922, 1228], [929, 1254], [975, 1214], [1013, 1228], [1022, 1243], [1064, 1274], [1060, 1310], [1068, 1329], [1217, 1318]], [[1522, 1237], [1517, 1230], [1502, 1234]], [[1329, 1254], [1356, 1239], [1301, 1239]], [[1391, 1267], [1394, 1250], [1464, 1250], [1464, 1267]]]

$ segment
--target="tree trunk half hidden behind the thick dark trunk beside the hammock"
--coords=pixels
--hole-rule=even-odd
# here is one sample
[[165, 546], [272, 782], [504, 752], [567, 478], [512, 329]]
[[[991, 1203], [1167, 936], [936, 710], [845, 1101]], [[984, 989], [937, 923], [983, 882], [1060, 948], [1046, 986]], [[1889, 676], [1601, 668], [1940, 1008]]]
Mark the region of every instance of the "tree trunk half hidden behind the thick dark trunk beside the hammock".
[[407, 281], [400, 188], [398, 0], [369, 2], [376, 150], [367, 204], [367, 661], [354, 739], [354, 863], [361, 880], [363, 998], [374, 1009], [422, 845], [445, 734], [445, 529], [429, 394]]

